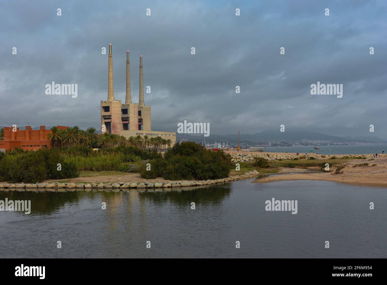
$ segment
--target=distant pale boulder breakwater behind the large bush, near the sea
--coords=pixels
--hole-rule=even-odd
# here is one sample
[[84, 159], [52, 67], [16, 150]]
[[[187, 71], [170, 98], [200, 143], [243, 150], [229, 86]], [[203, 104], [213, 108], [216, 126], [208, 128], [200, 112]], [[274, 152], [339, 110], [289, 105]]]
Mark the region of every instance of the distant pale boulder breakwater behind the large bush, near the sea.
[[348, 157], [373, 157], [372, 154], [308, 154], [306, 156], [305, 154], [295, 154], [295, 153], [274, 153], [274, 152], [261, 152], [261, 153], [248, 153], [248, 152], [241, 152], [241, 153], [233, 153], [231, 154], [231, 162], [248, 162], [253, 161], [254, 157], [264, 157], [265, 159], [268, 159], [269, 161], [275, 161], [279, 159], [293, 159], [293, 158], [302, 158], [305, 157], [305, 159], [308, 159], [309, 157], [314, 157], [315, 159], [330, 159], [331, 157], [337, 157], [341, 158], [343, 156]]

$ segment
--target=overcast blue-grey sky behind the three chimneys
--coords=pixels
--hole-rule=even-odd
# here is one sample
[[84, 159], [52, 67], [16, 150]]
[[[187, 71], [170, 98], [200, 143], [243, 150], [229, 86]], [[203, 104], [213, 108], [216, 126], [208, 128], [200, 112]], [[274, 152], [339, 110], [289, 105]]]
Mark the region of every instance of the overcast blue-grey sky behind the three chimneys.
[[[187, 120], [210, 123], [212, 134], [284, 124], [285, 131], [387, 138], [386, 8], [372, 0], [2, 1], [0, 125], [101, 129], [108, 93], [101, 48], [112, 43], [116, 100], [125, 101], [129, 49], [138, 102], [143, 56], [153, 130], [177, 131]], [[78, 97], [46, 95], [51, 81], [77, 84]], [[311, 95], [317, 81], [342, 84], [342, 98]]]

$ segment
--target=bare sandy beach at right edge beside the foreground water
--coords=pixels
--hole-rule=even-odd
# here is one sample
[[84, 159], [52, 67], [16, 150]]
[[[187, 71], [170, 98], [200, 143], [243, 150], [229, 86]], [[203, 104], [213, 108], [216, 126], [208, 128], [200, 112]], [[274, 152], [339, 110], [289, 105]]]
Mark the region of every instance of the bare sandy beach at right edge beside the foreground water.
[[[368, 166], [356, 166], [355, 164], [368, 163]], [[372, 166], [372, 164], [377, 164]], [[255, 183], [267, 183], [284, 180], [325, 180], [343, 183], [353, 183], [361, 185], [385, 185], [387, 186], [387, 157], [377, 157], [372, 161], [364, 159], [355, 159], [345, 163], [346, 167], [342, 169], [342, 174], [335, 174], [336, 167], [330, 168], [332, 172], [300, 173], [287, 174], [289, 172], [301, 172], [298, 168], [281, 168], [281, 174], [268, 176], [255, 180]], [[318, 169], [318, 168], [310, 168]]]

